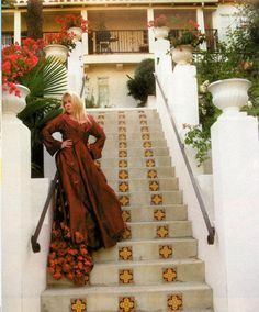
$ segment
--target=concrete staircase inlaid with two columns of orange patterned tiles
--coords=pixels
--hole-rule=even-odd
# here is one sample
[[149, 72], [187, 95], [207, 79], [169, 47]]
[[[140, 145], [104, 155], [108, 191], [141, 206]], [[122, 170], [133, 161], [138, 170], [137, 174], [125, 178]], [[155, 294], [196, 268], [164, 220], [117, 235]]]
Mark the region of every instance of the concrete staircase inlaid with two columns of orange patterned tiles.
[[93, 114], [108, 137], [100, 165], [127, 230], [117, 246], [95, 253], [88, 286], [48, 277], [42, 312], [212, 312], [212, 290], [158, 113]]

